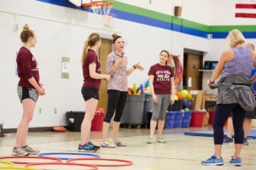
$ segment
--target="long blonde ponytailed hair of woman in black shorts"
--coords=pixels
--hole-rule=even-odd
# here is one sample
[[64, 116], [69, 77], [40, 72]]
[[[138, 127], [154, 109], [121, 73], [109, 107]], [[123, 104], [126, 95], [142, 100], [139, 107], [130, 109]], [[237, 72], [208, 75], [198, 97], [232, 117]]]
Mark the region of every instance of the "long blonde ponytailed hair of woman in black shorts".
[[84, 65], [84, 59], [86, 55], [88, 54], [88, 48], [92, 47], [96, 44], [97, 41], [100, 41], [101, 37], [97, 33], [91, 33], [90, 36], [87, 38], [87, 40], [84, 42], [84, 50], [82, 55], [82, 65]]

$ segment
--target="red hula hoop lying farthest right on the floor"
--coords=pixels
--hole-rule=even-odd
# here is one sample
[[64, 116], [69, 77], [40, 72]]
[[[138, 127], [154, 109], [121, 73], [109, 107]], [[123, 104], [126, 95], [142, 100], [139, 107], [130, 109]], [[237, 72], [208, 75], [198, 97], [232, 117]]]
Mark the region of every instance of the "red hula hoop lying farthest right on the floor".
[[127, 161], [127, 160], [119, 160], [119, 159], [104, 159], [104, 158], [74, 158], [74, 159], [70, 159], [67, 160], [67, 162], [73, 162], [73, 161], [81, 161], [81, 160], [97, 160], [97, 161], [122, 161], [122, 162], [126, 162], [127, 164], [118, 164], [118, 165], [108, 165], [108, 164], [90, 164], [90, 165], [96, 165], [97, 167], [126, 167], [126, 166], [131, 166], [133, 165], [132, 161]]

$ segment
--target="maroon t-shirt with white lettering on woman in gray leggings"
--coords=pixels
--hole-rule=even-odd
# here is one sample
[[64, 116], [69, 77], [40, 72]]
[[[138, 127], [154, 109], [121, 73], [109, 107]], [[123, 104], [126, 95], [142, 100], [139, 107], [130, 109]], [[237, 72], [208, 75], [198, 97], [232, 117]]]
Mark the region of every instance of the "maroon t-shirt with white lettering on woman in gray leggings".
[[154, 94], [171, 94], [171, 78], [174, 76], [172, 67], [169, 65], [152, 65], [148, 76], [154, 76]]

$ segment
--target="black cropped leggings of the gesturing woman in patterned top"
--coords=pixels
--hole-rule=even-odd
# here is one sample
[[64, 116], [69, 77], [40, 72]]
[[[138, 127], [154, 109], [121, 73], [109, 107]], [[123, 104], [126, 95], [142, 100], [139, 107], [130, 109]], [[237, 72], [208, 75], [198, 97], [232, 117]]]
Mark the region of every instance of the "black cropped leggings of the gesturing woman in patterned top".
[[127, 92], [121, 92], [119, 90], [108, 90], [108, 111], [104, 118], [104, 122], [110, 122], [114, 112], [115, 115], [113, 117], [113, 121], [121, 121], [127, 95]]

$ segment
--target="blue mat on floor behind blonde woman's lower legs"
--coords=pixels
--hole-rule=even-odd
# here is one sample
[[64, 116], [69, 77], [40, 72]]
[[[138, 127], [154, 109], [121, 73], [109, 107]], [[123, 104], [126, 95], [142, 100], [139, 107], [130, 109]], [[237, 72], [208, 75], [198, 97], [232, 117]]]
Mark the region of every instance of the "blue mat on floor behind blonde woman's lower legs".
[[[192, 136], [213, 136], [213, 130], [206, 130], [206, 131], [197, 131], [197, 132], [187, 132], [184, 133], [185, 135], [192, 135]], [[224, 129], [224, 135], [227, 135], [227, 129]], [[234, 134], [233, 134], [234, 137]], [[256, 129], [251, 129], [247, 134], [247, 138], [256, 139]]]

